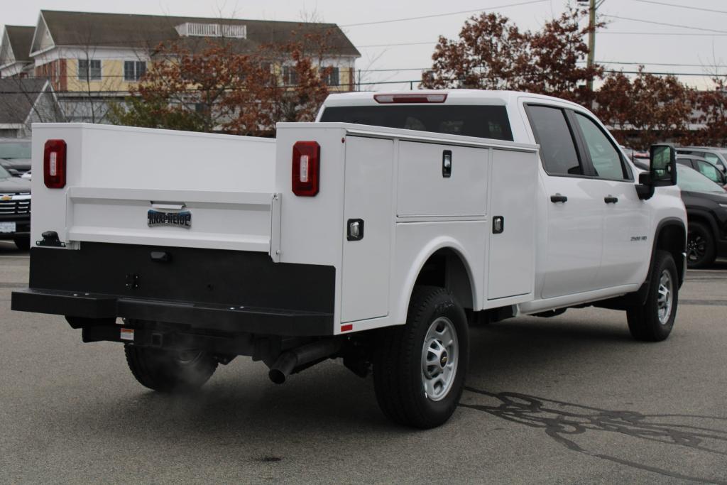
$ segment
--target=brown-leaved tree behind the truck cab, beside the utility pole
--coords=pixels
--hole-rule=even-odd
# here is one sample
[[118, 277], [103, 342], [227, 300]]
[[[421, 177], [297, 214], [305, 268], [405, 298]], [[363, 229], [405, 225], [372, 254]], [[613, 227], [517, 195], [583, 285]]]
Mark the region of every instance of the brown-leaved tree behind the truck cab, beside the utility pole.
[[590, 103], [585, 83], [602, 76], [603, 68], [581, 65], [590, 31], [579, 25], [584, 15], [569, 9], [537, 32], [520, 31], [497, 13], [471, 17], [459, 39], [439, 38], [422, 87], [515, 89]]

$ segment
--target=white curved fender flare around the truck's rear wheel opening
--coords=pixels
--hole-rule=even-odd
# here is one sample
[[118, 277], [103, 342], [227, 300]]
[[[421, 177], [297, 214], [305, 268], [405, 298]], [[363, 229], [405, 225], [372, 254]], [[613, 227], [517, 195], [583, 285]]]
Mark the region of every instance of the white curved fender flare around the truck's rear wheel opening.
[[472, 302], [474, 308], [480, 308], [480, 301], [478, 298], [478, 286], [475, 282], [472, 265], [470, 264], [470, 255], [467, 254], [467, 250], [459, 244], [456, 239], [447, 236], [440, 236], [438, 238], [429, 241], [422, 249], [419, 250], [417, 257], [414, 258], [413, 264], [409, 267], [409, 271], [403, 278], [403, 284], [400, 286], [398, 299], [398, 306], [395, 308], [394, 321], [398, 324], [406, 323], [406, 314], [409, 310], [409, 300], [411, 294], [414, 292], [414, 284], [417, 282], [419, 273], [422, 272], [422, 268], [426, 264], [427, 260], [435, 254], [435, 252], [441, 249], [450, 249], [454, 254], [457, 254], [462, 265], [465, 267], [467, 272], [467, 279], [470, 284], [470, 291], [472, 292]]

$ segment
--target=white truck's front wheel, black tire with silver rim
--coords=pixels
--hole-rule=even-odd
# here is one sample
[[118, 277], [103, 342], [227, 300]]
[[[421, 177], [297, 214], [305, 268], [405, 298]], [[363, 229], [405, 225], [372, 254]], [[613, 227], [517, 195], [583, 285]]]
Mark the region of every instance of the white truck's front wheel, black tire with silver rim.
[[[671, 286], [671, 305], [668, 310], [664, 310], [664, 318], [660, 319], [659, 308], [660, 306], [663, 308], [664, 305], [660, 305], [659, 295], [662, 278], [665, 274]], [[669, 337], [674, 327], [678, 302], [679, 282], [674, 258], [669, 252], [657, 251], [656, 258], [654, 259], [654, 267], [651, 270], [646, 303], [644, 305], [632, 306], [626, 311], [631, 336], [636, 340], [646, 342], [665, 340]]]

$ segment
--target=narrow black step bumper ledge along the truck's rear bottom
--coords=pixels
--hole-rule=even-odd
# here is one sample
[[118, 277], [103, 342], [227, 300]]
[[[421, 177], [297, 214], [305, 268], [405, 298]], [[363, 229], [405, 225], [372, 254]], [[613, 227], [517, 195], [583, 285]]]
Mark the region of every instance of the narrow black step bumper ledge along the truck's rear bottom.
[[246, 306], [139, 300], [107, 294], [25, 289], [12, 292], [12, 310], [81, 318], [131, 318], [212, 330], [268, 335], [333, 333], [333, 314]]

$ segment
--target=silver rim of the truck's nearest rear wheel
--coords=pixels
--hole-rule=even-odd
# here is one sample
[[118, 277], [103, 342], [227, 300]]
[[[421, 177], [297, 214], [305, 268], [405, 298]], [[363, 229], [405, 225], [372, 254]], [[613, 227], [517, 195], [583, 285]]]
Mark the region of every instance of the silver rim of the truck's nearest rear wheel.
[[449, 393], [458, 363], [457, 330], [449, 318], [441, 316], [429, 326], [422, 347], [422, 385], [427, 398], [441, 401]]

